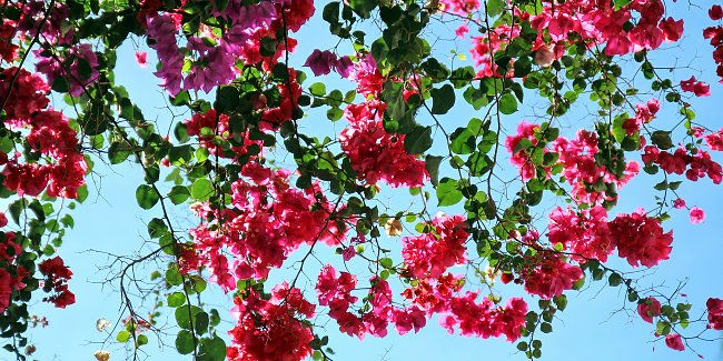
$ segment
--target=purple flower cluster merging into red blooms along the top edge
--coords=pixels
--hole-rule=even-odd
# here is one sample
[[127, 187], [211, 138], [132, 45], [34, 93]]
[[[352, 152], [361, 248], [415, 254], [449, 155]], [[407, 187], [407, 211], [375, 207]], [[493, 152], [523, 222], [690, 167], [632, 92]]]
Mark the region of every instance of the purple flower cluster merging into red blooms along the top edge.
[[[286, 50], [291, 51], [296, 46], [296, 40], [291, 38], [277, 38], [277, 31], [284, 28], [298, 31], [314, 12], [310, 0], [274, 0], [255, 4], [231, 0], [222, 10], [212, 9], [214, 17], [227, 21], [226, 31], [220, 33], [202, 27], [200, 34], [187, 37], [184, 47], [177, 40], [180, 30], [178, 12], [162, 12], [153, 7], [143, 13], [142, 23], [152, 40], [150, 47], [156, 50], [161, 63], [155, 74], [161, 79], [161, 87], [176, 96], [181, 90], [210, 92], [218, 86], [230, 83], [239, 71], [237, 60], [251, 64], [264, 62], [264, 67], [270, 70]], [[271, 56], [265, 56], [263, 39], [274, 41]], [[289, 49], [286, 49], [287, 46]], [[186, 57], [186, 52], [195, 57]], [[186, 61], [191, 64], [184, 76]], [[288, 97], [283, 96], [283, 99], [288, 100]], [[290, 119], [290, 116], [287, 118]]]

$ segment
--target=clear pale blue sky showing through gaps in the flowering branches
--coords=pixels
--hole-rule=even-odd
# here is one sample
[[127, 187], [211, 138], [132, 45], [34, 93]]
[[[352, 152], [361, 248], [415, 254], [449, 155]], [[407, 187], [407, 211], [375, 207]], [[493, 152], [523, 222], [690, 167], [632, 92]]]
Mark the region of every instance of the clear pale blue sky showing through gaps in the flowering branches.
[[[321, 7], [321, 4], [318, 6], [317, 16], [320, 16]], [[674, 13], [677, 14], [689, 11], [687, 4], [684, 3], [677, 3], [674, 10]], [[707, 18], [703, 16], [703, 11], [690, 9], [690, 14], [686, 14], [685, 18], [684, 48], [670, 49], [660, 59], [671, 64], [673, 61], [666, 57], [680, 58], [679, 64], [691, 63], [693, 68], [704, 71], [703, 77], [699, 77], [700, 73], [692, 70], [681, 71], [677, 80], [695, 74], [711, 83], [713, 96], [693, 99], [691, 103], [695, 107], [701, 122], [710, 128], [719, 129], [723, 126], [720, 112], [723, 87], [716, 82], [716, 78], [713, 76], [712, 48], [701, 37], [701, 29], [707, 22]], [[314, 48], [333, 47], [335, 42], [330, 37], [324, 36], [326, 32], [325, 23], [317, 22], [306, 27], [297, 36], [299, 48], [291, 57], [293, 63], [303, 63]], [[443, 36], [443, 38], [449, 37]], [[445, 49], [444, 47], [449, 46], [440, 43], [439, 47]], [[435, 51], [440, 57], [445, 53], [448, 54], [446, 50]], [[162, 109], [165, 96], [153, 87], [158, 81], [151, 74], [150, 68], [138, 68], [129, 47], [123, 48], [118, 59], [117, 82], [128, 88], [131, 99], [141, 106], [147, 118], [167, 123], [169, 113]], [[155, 62], [152, 52], [149, 52], [149, 62], [151, 64]], [[467, 60], [456, 60], [455, 63], [457, 66], [472, 64], [472, 59], [467, 57]], [[308, 73], [310, 76], [310, 72]], [[323, 80], [327, 82], [327, 89], [330, 89], [331, 86], [345, 90], [350, 88], [350, 83], [338, 80], [336, 74]], [[311, 79], [307, 80], [307, 86], [311, 81]], [[462, 103], [462, 99], [458, 101]], [[475, 116], [471, 108], [464, 106], [458, 108], [459, 110], [455, 110], [455, 113], [442, 119], [445, 124], [449, 124], [449, 129], [463, 126], [466, 123], [466, 119]], [[667, 114], [668, 118], [661, 116], [656, 122], [672, 123], [674, 112], [673, 107], [664, 108], [663, 114]], [[585, 114], [586, 112], [583, 110], [583, 112], [574, 112], [567, 118], [574, 120], [575, 124], [580, 124], [582, 122], [577, 119], [583, 119]], [[513, 130], [521, 117], [534, 120], [531, 110], [523, 109], [523, 112], [505, 120], [506, 128]], [[585, 123], [590, 124], [591, 122], [585, 121]], [[318, 124], [324, 126], [318, 127]], [[319, 128], [320, 131], [327, 133], [338, 133], [343, 128], [341, 123], [335, 124], [334, 128], [326, 128], [328, 121], [324, 114], [315, 113], [303, 120], [301, 126], [306, 130]], [[723, 161], [723, 157], [720, 154], [714, 157], [719, 161]], [[121, 166], [108, 169], [97, 162], [96, 171], [98, 174], [88, 179], [91, 194], [88, 201], [72, 213], [76, 219], [76, 228], [66, 237], [66, 243], [59, 253], [75, 272], [70, 285], [77, 294], [77, 303], [66, 310], [56, 310], [43, 303], [38, 303], [31, 309], [37, 314], [47, 315], [50, 321], [50, 327], [47, 329], [31, 332], [31, 341], [38, 347], [36, 353], [38, 360], [92, 360], [92, 352], [101, 348], [112, 352], [111, 360], [125, 359], [122, 347], [112, 342], [102, 345], [101, 342], [106, 340], [107, 335], [98, 333], [95, 329], [96, 320], [103, 317], [113, 324], [118, 323], [120, 295], [117, 292], [117, 284], [100, 283], [109, 277], [108, 270], [103, 267], [108, 265], [112, 258], [89, 250], [116, 254], [128, 254], [137, 250], [147, 251], [148, 248], [142, 248], [143, 240], [147, 238], [146, 222], [158, 210], [141, 211], [136, 205], [135, 190], [137, 184], [142, 181], [139, 167]], [[652, 182], [653, 180], [647, 177], [634, 179], [622, 192], [622, 202], [616, 211], [628, 212], [640, 205], [651, 208], [655, 194], [652, 190]], [[96, 190], [99, 190], [100, 194]], [[680, 193], [689, 205], [703, 208], [707, 213], [707, 219], [703, 224], [692, 225], [687, 221], [685, 211], [674, 210], [672, 212], [673, 220], [664, 224], [666, 230], [674, 229], [675, 241], [671, 260], [663, 262], [654, 272], [647, 272], [648, 275], [641, 281], [641, 285], [660, 287], [664, 284], [664, 287], [674, 288], [677, 282], [687, 280], [685, 292], [694, 304], [692, 314], [695, 315], [703, 311], [707, 297], [723, 298], [723, 287], [720, 283], [723, 274], [723, 262], [720, 261], [721, 254], [723, 254], [723, 238], [717, 229], [717, 225], [723, 223], [723, 205], [721, 205], [722, 198], [720, 195], [722, 193], [721, 187], [714, 187], [709, 180], [695, 184], [685, 183]], [[392, 198], [387, 202], [389, 204], [407, 204], [409, 201], [407, 197], [393, 194], [389, 190], [385, 190], [383, 195]], [[454, 213], [454, 209], [445, 210], [445, 212]], [[178, 224], [192, 224], [184, 208], [175, 209], [174, 213], [178, 215]], [[393, 244], [394, 242], [398, 243], [398, 239], [389, 240], [390, 247], [398, 248], [398, 244]], [[334, 259], [335, 265], [338, 265], [339, 261], [338, 257]], [[624, 262], [615, 261], [614, 264], [622, 270], [630, 270]], [[147, 277], [152, 270], [152, 265], [155, 264], [147, 270], [139, 270], [139, 278]], [[158, 264], [158, 267], [165, 268], [164, 264]], [[280, 279], [288, 274], [288, 271], [281, 271], [275, 273], [274, 278]], [[311, 274], [314, 273], [311, 272]], [[315, 278], [315, 275], [313, 277]], [[315, 297], [313, 285], [307, 284], [307, 290], [310, 298]], [[206, 301], [220, 305], [221, 315], [228, 320], [228, 314], [224, 314], [222, 311], [228, 308], [224, 307], [224, 304], [229, 304], [228, 300], [220, 292], [214, 294], [214, 298], [205, 297]], [[637, 314], [615, 312], [623, 305], [625, 297], [624, 293], [618, 292], [618, 289], [605, 287], [604, 282], [597, 282], [592, 283], [584, 292], [567, 292], [567, 297], [570, 299], [568, 308], [558, 313], [559, 318], [553, 324], [554, 332], [542, 338], [544, 360], [572, 358], [591, 361], [695, 359], [694, 353], [668, 350], [662, 341], [651, 343], [655, 339], [652, 334], [654, 328], [643, 322]], [[148, 302], [148, 304], [150, 303]], [[174, 321], [170, 322], [172, 325]], [[226, 329], [229, 327], [230, 324], [224, 325]], [[416, 335], [397, 337], [390, 329], [390, 337], [385, 339], [368, 337], [364, 342], [339, 334], [334, 321], [329, 321], [326, 328], [330, 337], [329, 345], [337, 352], [335, 360], [341, 361], [524, 359], [524, 355], [515, 354], [514, 344], [503, 340], [448, 335], [444, 329], [436, 324], [436, 319], [432, 320]], [[171, 333], [175, 332], [171, 330]], [[709, 332], [707, 335], [720, 337], [721, 332]], [[113, 339], [115, 334], [110, 335], [110, 340]], [[174, 338], [165, 338], [165, 342], [172, 345]], [[721, 341], [694, 342], [693, 344], [706, 360], [723, 360]], [[160, 348], [159, 340], [155, 337], [150, 337], [150, 344], [143, 349], [149, 352], [150, 360], [182, 360], [172, 347]], [[0, 354], [0, 360], [3, 357]]]

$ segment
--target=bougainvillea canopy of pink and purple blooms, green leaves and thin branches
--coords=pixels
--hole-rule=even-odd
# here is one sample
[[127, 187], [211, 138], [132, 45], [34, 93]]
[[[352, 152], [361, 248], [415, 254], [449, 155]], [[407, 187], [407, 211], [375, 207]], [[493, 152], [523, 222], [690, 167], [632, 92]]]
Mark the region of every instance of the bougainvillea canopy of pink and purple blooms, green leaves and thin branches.
[[[130, 166], [147, 234], [110, 257], [122, 322], [97, 327], [133, 360], [153, 338], [171, 359], [334, 360], [329, 328], [432, 327], [539, 359], [597, 283], [696, 354], [722, 291], [645, 277], [691, 247], [671, 219], [706, 218], [685, 194], [723, 180], [720, 117], [695, 113], [722, 99], [723, 8], [674, 2], [0, 0], [4, 349], [32, 358], [37, 301], [92, 297], [63, 239], [92, 222], [72, 217], [90, 180]], [[123, 67], [155, 69], [160, 112]], [[653, 193], [621, 209], [626, 185]]]

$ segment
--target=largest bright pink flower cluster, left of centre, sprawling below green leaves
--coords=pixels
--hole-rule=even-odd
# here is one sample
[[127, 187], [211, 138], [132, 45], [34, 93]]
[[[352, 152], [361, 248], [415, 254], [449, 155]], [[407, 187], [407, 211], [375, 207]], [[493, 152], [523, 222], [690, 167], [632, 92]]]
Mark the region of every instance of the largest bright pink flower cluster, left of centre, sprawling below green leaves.
[[[304, 243], [335, 245], [344, 239], [335, 221], [338, 209], [318, 187], [294, 189], [289, 171], [257, 162], [246, 164], [241, 176], [231, 184], [234, 208], [207, 211], [212, 219], [191, 230], [195, 242], [181, 254], [184, 272], [204, 264], [211, 281], [229, 291], [236, 280], [266, 278]], [[225, 251], [234, 255], [230, 267]]]

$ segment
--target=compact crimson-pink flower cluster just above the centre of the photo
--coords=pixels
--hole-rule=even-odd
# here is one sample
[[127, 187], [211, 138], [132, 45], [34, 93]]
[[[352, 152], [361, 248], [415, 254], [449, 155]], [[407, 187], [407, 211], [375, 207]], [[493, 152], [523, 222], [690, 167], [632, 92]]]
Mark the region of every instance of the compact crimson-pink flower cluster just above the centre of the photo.
[[420, 187], [428, 178], [424, 161], [407, 153], [405, 134], [384, 130], [385, 109], [386, 104], [379, 100], [347, 106], [344, 117], [349, 128], [339, 134], [341, 150], [349, 157], [358, 178], [368, 184], [384, 180], [392, 187]]

